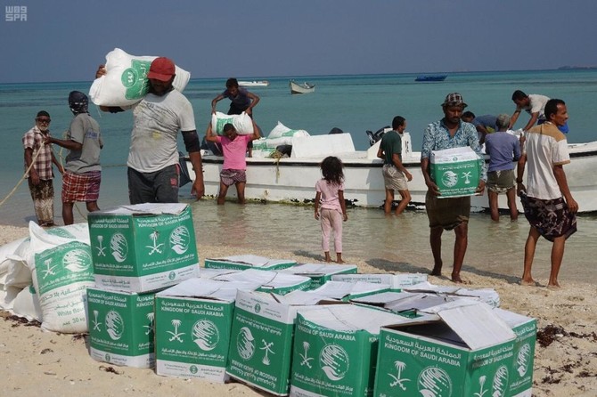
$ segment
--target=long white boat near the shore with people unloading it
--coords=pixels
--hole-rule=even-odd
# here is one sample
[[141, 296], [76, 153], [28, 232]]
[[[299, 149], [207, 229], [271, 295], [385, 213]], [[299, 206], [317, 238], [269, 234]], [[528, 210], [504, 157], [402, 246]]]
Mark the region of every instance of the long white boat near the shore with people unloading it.
[[[315, 198], [315, 182], [321, 178], [321, 161], [326, 156], [336, 156], [344, 164], [345, 199], [357, 207], [380, 207], [385, 188], [381, 175], [383, 162], [377, 158], [379, 145], [380, 142], [375, 142], [368, 150], [355, 150], [350, 134], [293, 137], [290, 158], [247, 158], [245, 197], [272, 202], [311, 202]], [[571, 162], [564, 169], [572, 196], [580, 212], [597, 211], [597, 142], [568, 146]], [[223, 158], [209, 153], [203, 153], [205, 194], [217, 196]], [[191, 163], [186, 164], [194, 179]], [[413, 181], [408, 182], [411, 205], [422, 208], [427, 186], [421, 172], [421, 152], [413, 152], [408, 133], [403, 139], [403, 164], [413, 174]], [[235, 195], [234, 189], [228, 190], [229, 198]], [[488, 208], [487, 193], [473, 196], [471, 204], [477, 211]], [[504, 194], [499, 195], [499, 207], [508, 208]], [[519, 210], [522, 211], [520, 204]]]

